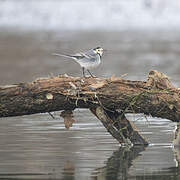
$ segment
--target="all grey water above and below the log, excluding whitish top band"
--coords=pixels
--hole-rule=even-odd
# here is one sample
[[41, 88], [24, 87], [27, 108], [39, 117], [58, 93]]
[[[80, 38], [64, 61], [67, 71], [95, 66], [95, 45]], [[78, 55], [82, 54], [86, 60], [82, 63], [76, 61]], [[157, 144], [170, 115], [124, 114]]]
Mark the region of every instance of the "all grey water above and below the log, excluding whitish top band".
[[[78, 64], [53, 57], [95, 46], [107, 49], [93, 71], [99, 77], [146, 80], [152, 69], [175, 86], [180, 76], [180, 36], [158, 31], [0, 30], [0, 84], [58, 74], [81, 76]], [[175, 123], [129, 114], [150, 145], [127, 150], [88, 110], [74, 112], [67, 130], [54, 112], [0, 119], [0, 179], [179, 179], [179, 157], [172, 146]], [[176, 150], [178, 151], [178, 150]]]

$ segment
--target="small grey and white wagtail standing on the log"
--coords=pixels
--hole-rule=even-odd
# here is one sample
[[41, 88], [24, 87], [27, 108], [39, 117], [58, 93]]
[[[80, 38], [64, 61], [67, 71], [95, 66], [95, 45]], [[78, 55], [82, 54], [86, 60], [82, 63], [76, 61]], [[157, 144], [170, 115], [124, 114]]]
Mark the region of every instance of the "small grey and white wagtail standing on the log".
[[93, 69], [99, 66], [99, 64], [101, 63], [102, 54], [103, 54], [103, 48], [96, 47], [94, 49], [90, 49], [88, 51], [80, 52], [74, 55], [59, 54], [59, 53], [53, 53], [52, 55], [63, 56], [74, 59], [82, 67], [82, 72], [84, 77], [85, 77], [85, 69], [92, 77], [94, 77], [92, 73], [89, 71], [89, 69]]

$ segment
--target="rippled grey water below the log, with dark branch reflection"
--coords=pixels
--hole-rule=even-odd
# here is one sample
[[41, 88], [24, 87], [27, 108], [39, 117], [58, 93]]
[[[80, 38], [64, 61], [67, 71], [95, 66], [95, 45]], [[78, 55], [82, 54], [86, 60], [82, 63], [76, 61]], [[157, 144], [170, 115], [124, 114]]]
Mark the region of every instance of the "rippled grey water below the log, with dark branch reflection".
[[129, 115], [151, 145], [145, 151], [141, 147], [128, 151], [88, 110], [75, 111], [70, 130], [64, 128], [58, 112], [54, 116], [1, 119], [0, 179], [179, 176], [171, 144], [174, 124], [168, 120]]

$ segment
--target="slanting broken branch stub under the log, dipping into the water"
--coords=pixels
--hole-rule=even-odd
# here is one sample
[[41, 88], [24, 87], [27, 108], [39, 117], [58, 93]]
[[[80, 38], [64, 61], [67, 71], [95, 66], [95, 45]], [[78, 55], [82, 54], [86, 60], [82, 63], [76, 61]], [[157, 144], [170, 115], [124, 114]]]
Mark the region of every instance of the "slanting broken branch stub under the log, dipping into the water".
[[107, 131], [120, 143], [131, 145], [148, 145], [146, 139], [138, 132], [135, 125], [123, 113], [108, 111], [101, 106], [91, 108], [91, 112], [102, 122]]

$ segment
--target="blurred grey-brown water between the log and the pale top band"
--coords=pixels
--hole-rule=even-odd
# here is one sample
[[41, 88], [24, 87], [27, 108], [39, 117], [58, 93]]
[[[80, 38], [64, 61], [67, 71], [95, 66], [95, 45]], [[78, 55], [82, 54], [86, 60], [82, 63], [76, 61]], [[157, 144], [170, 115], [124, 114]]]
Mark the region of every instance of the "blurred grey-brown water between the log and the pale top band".
[[[103, 63], [93, 72], [113, 74], [132, 80], [145, 80], [150, 70], [161, 71], [179, 85], [179, 31], [97, 32], [97, 31], [0, 31], [0, 84], [32, 81], [35, 78], [67, 73], [81, 76], [79, 65], [54, 52], [73, 54], [102, 46]], [[18, 42], [18, 45], [17, 45]], [[7, 73], [8, 72], [8, 73]]]

